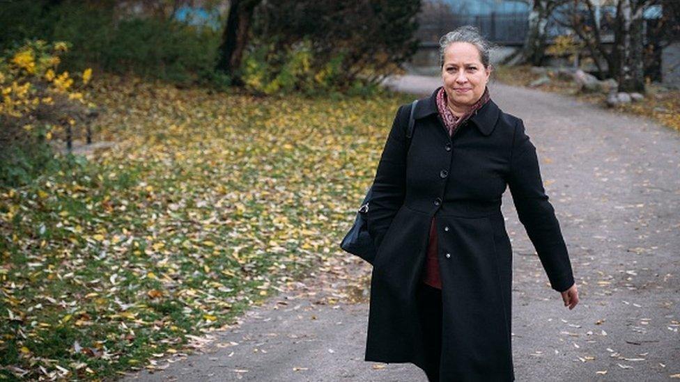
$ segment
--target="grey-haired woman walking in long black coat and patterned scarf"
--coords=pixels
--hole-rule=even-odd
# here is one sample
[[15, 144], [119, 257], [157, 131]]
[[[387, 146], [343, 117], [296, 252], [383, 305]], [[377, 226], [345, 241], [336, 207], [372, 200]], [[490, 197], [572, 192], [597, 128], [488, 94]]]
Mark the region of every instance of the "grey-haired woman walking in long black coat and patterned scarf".
[[365, 360], [414, 363], [430, 381], [513, 381], [509, 186], [550, 286], [578, 292], [536, 149], [490, 100], [489, 44], [464, 26], [440, 40], [442, 86], [399, 108], [367, 213], [377, 255]]

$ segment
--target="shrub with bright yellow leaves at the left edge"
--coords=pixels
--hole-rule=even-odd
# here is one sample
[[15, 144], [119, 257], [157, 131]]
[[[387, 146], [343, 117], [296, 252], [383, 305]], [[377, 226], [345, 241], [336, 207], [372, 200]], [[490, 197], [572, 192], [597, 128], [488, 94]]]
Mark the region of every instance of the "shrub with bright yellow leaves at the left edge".
[[83, 90], [91, 69], [57, 71], [68, 43], [26, 40], [0, 56], [0, 186], [17, 186], [42, 173], [52, 161], [49, 141], [62, 125], [78, 126], [88, 107]]

